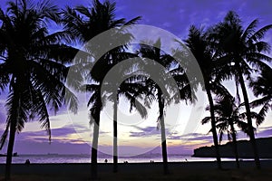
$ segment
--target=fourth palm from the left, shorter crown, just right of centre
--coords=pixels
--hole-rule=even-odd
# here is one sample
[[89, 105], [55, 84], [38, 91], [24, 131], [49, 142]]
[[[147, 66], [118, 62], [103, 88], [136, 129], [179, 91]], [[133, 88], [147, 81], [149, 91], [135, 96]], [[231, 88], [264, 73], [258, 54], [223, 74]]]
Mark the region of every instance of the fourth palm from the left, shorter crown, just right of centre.
[[[153, 44], [153, 46], [148, 45]], [[151, 104], [152, 101], [156, 100], [158, 102], [159, 107], [159, 117], [158, 117], [158, 125], [157, 128], [160, 129], [161, 135], [161, 152], [162, 152], [162, 160], [163, 160], [163, 170], [164, 174], [169, 173], [168, 167], [168, 156], [167, 156], [167, 143], [166, 143], [166, 130], [165, 130], [165, 107], [169, 106], [171, 102], [179, 102], [180, 98], [189, 99], [190, 90], [189, 86], [184, 86], [185, 82], [188, 82], [186, 76], [184, 76], [184, 71], [179, 66], [179, 63], [174, 61], [174, 59], [167, 53], [160, 50], [161, 43], [160, 39], [158, 39], [155, 43], [141, 43], [140, 49], [137, 51], [142, 58], [142, 61], [145, 62], [143, 70], [149, 75], [148, 79], [145, 81], [146, 90], [148, 90], [146, 94], [146, 103]], [[149, 60], [153, 60], [154, 62], [149, 62]], [[155, 72], [150, 71], [158, 71], [154, 69], [157, 63], [160, 63], [165, 70]], [[183, 72], [183, 73], [182, 73]], [[175, 81], [177, 81], [178, 88], [176, 89], [175, 85], [172, 85], [170, 81], [167, 81], [167, 77], [170, 74]], [[157, 78], [154, 77], [158, 76]], [[153, 80], [155, 79], [155, 80]], [[186, 89], [182, 89], [182, 88]], [[181, 90], [182, 89], [182, 90]], [[168, 92], [168, 93], [167, 93]], [[180, 94], [182, 92], [182, 96], [175, 97], [175, 94]]]

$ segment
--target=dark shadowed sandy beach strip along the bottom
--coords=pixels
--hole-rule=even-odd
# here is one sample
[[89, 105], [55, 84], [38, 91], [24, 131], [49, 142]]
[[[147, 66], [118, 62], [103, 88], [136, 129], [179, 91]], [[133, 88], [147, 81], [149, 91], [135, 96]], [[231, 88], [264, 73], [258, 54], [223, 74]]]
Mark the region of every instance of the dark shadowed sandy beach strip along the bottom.
[[[223, 170], [216, 162], [169, 163], [170, 175], [164, 176], [162, 163], [119, 164], [119, 173], [112, 173], [112, 164], [99, 164], [99, 180], [270, 180], [272, 161], [263, 160], [257, 170], [253, 161], [223, 162]], [[88, 180], [90, 164], [14, 164], [13, 180]], [[0, 178], [4, 179], [5, 164], [0, 165]]]

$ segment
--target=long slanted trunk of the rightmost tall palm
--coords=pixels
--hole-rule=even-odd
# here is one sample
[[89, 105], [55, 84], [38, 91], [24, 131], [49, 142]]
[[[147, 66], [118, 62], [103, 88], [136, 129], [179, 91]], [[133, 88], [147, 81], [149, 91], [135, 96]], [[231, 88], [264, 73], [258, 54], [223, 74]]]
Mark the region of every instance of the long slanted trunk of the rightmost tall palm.
[[254, 134], [254, 129], [252, 126], [252, 119], [250, 116], [250, 107], [249, 107], [249, 100], [248, 100], [248, 92], [247, 92], [247, 88], [245, 85], [245, 81], [242, 75], [242, 72], [239, 70], [239, 83], [241, 85], [241, 90], [243, 92], [243, 97], [244, 97], [244, 102], [245, 102], [245, 107], [246, 107], [246, 113], [247, 113], [247, 119], [248, 119], [248, 129], [249, 129], [249, 138], [250, 138], [250, 142], [253, 148], [253, 154], [254, 154], [254, 159], [255, 159], [255, 165], [257, 167], [257, 169], [260, 169], [260, 161], [259, 161], [259, 157], [258, 157], [258, 151], [257, 151], [257, 144], [256, 144], [256, 139], [255, 139], [255, 134]]

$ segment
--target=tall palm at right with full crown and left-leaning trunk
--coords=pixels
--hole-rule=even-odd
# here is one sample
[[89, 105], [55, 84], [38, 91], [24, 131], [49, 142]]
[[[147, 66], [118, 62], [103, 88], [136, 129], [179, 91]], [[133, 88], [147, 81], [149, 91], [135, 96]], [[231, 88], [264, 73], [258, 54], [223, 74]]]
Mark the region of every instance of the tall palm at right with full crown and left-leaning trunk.
[[219, 76], [218, 78], [222, 80], [234, 77], [237, 85], [240, 85], [247, 111], [249, 138], [252, 143], [256, 167], [260, 168], [244, 75], [249, 79], [253, 68], [258, 70], [264, 66], [264, 61], [270, 62], [272, 60], [263, 53], [268, 52], [270, 48], [270, 45], [264, 42], [263, 38], [265, 33], [272, 28], [272, 24], [256, 31], [257, 23], [256, 19], [246, 29], [243, 29], [238, 14], [230, 11], [224, 21], [215, 26], [213, 35], [218, 41], [218, 49], [225, 55], [222, 58], [225, 66], [219, 69], [221, 72], [224, 71], [224, 73], [221, 73], [223, 77]]

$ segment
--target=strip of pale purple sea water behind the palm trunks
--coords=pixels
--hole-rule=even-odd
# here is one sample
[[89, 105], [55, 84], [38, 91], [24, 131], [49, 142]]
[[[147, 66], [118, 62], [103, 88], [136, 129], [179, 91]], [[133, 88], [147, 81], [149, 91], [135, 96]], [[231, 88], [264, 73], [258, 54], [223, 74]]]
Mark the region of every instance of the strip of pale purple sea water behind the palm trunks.
[[[22, 164], [26, 159], [29, 159], [31, 163], [90, 163], [90, 155], [19, 155], [13, 157], [13, 163]], [[112, 163], [112, 156], [102, 155], [98, 157], [99, 163], [104, 163], [107, 159], [108, 163]], [[128, 161], [129, 163], [147, 163], [153, 160], [154, 162], [162, 162], [160, 154], [141, 155], [135, 157], [119, 157], [118, 162], [123, 163]], [[190, 157], [189, 155], [168, 155], [169, 162], [191, 162], [191, 161], [215, 161], [214, 157]], [[222, 158], [225, 161], [235, 160], [234, 158]], [[0, 163], [5, 163], [5, 157], [0, 157]]]

